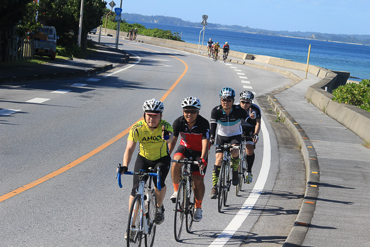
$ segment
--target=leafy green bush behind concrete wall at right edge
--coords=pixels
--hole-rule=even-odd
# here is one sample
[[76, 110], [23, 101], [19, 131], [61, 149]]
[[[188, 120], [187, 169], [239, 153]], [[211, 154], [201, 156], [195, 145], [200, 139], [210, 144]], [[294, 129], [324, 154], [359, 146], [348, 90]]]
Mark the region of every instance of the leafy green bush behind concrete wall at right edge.
[[359, 84], [349, 83], [332, 91], [333, 101], [353, 104], [370, 112], [370, 80], [364, 79]]

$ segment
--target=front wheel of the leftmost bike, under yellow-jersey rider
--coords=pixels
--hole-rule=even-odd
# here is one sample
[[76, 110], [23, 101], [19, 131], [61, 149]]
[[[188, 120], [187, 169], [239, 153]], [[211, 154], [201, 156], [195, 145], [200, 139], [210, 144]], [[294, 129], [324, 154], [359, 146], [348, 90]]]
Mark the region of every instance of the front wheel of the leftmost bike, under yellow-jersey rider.
[[[143, 210], [141, 208], [141, 196], [136, 195], [132, 200], [130, 213], [127, 223], [127, 247], [135, 246], [139, 247], [142, 240], [142, 229], [140, 228], [140, 218], [142, 219]], [[138, 214], [139, 213], [139, 214]], [[132, 240], [130, 240], [130, 238]]]

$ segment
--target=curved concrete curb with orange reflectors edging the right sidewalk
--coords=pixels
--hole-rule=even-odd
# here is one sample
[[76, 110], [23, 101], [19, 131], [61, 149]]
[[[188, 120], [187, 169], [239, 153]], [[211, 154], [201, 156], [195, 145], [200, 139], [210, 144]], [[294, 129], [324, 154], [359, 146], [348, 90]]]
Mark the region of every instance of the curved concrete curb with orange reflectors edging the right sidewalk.
[[285, 125], [294, 135], [300, 145], [306, 164], [306, 192], [297, 219], [283, 246], [301, 246], [311, 224], [311, 219], [316, 207], [318, 186], [320, 183], [320, 169], [315, 148], [306, 136], [302, 127], [287, 113], [273, 95], [268, 96], [268, 101], [274, 111], [280, 113], [280, 118], [285, 120]]

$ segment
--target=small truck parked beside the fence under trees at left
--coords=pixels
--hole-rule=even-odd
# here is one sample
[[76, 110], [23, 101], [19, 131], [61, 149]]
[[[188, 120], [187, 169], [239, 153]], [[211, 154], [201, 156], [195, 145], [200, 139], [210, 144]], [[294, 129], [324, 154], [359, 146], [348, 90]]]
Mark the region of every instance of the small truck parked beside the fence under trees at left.
[[39, 28], [39, 32], [32, 34], [34, 41], [34, 54], [39, 56], [48, 56], [51, 60], [55, 59], [57, 36], [55, 27], [43, 26]]

